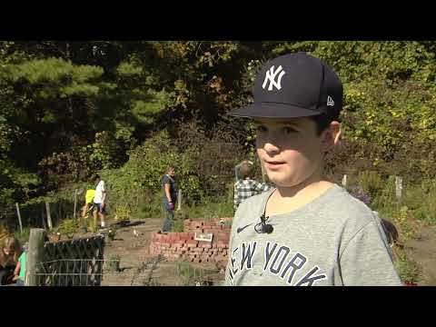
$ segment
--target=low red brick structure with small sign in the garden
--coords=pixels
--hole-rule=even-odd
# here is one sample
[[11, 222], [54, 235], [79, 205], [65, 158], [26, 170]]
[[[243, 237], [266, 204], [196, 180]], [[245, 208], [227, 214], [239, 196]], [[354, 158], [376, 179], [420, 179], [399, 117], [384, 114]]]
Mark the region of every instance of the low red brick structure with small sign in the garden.
[[[183, 233], [154, 233], [150, 253], [169, 261], [184, 259], [193, 263], [227, 262], [232, 218], [211, 221], [185, 220]], [[212, 242], [195, 241], [197, 233], [213, 233]]]

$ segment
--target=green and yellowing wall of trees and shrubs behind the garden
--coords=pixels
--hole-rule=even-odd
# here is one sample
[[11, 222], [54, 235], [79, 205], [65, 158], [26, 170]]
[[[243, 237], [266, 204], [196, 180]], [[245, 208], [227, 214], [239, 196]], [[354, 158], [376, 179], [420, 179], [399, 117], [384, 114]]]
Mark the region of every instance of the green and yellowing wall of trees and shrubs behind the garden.
[[[109, 209], [160, 214], [168, 163], [188, 205], [229, 202], [234, 164], [255, 157], [253, 127], [226, 113], [253, 101], [265, 60], [297, 51], [322, 58], [344, 84], [342, 146], [326, 163], [334, 181], [355, 176], [373, 199], [391, 175], [431, 183], [435, 50], [430, 41], [0, 42], [2, 217], [23, 203], [40, 221], [35, 203], [63, 193], [59, 219], [72, 215], [74, 189], [94, 172], [107, 181]], [[424, 203], [411, 210], [432, 219]]]

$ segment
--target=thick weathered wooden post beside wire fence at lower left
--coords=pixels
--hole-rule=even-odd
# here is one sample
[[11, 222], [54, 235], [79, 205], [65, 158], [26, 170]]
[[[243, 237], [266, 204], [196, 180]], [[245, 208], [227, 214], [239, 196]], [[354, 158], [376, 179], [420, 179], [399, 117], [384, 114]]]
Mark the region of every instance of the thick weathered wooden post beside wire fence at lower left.
[[39, 276], [35, 273], [41, 272], [41, 263], [44, 262], [45, 230], [33, 228], [30, 230], [29, 247], [25, 263], [25, 285], [37, 286]]

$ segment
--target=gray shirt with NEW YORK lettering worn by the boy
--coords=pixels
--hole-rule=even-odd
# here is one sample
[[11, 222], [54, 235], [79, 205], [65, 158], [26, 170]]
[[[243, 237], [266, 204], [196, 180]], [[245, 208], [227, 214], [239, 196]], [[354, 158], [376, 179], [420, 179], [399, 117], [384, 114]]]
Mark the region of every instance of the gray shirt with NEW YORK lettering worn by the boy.
[[273, 190], [241, 203], [235, 213], [224, 285], [401, 286], [381, 221], [342, 187], [273, 215], [272, 233], [257, 233]]

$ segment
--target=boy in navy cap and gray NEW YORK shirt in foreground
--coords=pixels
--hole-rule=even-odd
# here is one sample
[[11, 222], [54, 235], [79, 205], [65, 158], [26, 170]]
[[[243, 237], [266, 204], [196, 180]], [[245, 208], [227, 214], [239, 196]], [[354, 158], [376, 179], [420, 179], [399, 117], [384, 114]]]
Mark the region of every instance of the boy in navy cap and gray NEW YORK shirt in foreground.
[[378, 216], [322, 176], [341, 134], [337, 74], [311, 55], [282, 55], [263, 65], [253, 97], [231, 114], [253, 119], [276, 187], [236, 211], [224, 284], [401, 285]]

